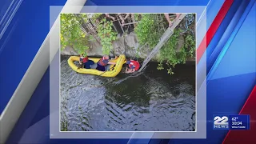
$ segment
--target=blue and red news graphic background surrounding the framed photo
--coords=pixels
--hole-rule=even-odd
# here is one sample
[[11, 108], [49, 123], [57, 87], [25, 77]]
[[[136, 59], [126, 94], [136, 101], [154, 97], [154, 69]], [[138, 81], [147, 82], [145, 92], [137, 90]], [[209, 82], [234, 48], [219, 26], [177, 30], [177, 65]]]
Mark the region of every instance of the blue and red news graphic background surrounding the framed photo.
[[[66, 1], [2, 1], [0, 12], [1, 112], [30, 66], [50, 28], [50, 6]], [[10, 6], [11, 5], [11, 6]], [[207, 138], [149, 140], [154, 143], [255, 142], [255, 10], [254, 0], [220, 1], [87, 1], [86, 5], [207, 6], [206, 46], [198, 46], [198, 68], [207, 66]], [[10, 8], [9, 8], [10, 7]], [[9, 8], [9, 9], [8, 9]], [[10, 21], [9, 21], [10, 20]], [[201, 58], [205, 56], [206, 61]], [[14, 70], [15, 69], [15, 70]], [[50, 70], [8, 138], [9, 143], [126, 143], [129, 139], [50, 139]], [[250, 130], [213, 130], [213, 115], [250, 114]], [[38, 126], [38, 128], [37, 128]], [[26, 137], [26, 134], [31, 137]], [[32, 136], [33, 135], [33, 136]], [[140, 141], [142, 142], [142, 141]]]

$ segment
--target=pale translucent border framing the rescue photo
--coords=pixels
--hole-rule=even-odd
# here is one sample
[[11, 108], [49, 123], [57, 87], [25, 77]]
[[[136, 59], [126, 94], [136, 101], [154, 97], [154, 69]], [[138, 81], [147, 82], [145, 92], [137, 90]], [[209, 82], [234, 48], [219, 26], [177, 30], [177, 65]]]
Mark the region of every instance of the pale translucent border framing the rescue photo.
[[[50, 6], [50, 138], [206, 138], [206, 64], [196, 65], [195, 131], [60, 131], [60, 21], [63, 13], [194, 13], [196, 46], [206, 35], [206, 6]], [[80, 11], [79, 11], [80, 10]], [[61, 12], [62, 11], [62, 12]], [[205, 42], [206, 44], [206, 42]], [[201, 62], [206, 62], [203, 55]], [[200, 109], [198, 109], [200, 107]]]

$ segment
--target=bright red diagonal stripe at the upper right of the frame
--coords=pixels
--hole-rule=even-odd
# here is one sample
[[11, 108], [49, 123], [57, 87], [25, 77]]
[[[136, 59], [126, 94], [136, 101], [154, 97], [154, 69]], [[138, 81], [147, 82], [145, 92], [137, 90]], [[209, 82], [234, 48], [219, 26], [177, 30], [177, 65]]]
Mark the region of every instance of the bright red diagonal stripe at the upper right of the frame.
[[214, 22], [212, 22], [209, 30], [206, 32], [205, 37], [202, 39], [202, 42], [198, 46], [197, 63], [202, 58], [202, 54], [204, 54], [204, 52], [206, 51], [206, 47], [209, 45], [211, 39], [214, 38], [214, 34], [218, 30], [218, 26], [221, 25], [222, 20], [225, 18], [227, 11], [230, 10], [230, 6], [233, 2], [234, 0], [226, 0], [222, 5], [221, 10], [218, 11], [217, 16], [214, 18]]

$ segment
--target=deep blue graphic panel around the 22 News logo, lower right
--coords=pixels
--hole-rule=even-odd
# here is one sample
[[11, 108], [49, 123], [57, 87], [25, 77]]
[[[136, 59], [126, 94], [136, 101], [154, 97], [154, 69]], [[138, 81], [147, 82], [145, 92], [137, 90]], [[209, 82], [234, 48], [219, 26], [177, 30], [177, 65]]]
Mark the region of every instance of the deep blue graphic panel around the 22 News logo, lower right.
[[256, 73], [210, 80], [207, 84], [207, 138], [170, 139], [176, 143], [222, 143], [228, 130], [213, 130], [213, 115], [238, 114], [254, 87]]

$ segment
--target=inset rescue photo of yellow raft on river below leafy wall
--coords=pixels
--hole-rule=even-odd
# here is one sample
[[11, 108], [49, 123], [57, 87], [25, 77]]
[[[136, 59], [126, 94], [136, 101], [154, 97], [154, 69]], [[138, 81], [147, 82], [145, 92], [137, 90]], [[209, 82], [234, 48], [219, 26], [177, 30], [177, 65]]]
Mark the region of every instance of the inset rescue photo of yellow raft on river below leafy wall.
[[196, 131], [195, 14], [60, 19], [60, 131]]

